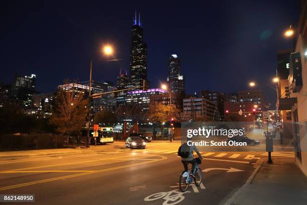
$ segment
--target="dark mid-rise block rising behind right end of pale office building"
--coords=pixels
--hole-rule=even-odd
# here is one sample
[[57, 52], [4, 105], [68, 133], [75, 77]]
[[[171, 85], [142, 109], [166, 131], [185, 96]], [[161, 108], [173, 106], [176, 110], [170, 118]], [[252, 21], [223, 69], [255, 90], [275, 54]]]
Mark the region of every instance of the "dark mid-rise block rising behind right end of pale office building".
[[209, 99], [217, 105], [218, 111], [218, 121], [224, 121], [224, 102], [226, 100], [226, 95], [217, 91], [201, 90], [201, 97]]

